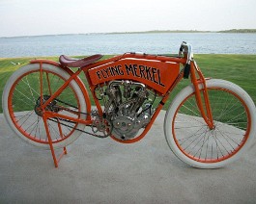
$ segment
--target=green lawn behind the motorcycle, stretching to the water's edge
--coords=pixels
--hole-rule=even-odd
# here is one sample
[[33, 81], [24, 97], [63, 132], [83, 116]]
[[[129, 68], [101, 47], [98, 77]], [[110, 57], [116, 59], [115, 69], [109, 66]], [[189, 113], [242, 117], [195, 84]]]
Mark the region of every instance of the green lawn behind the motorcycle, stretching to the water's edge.
[[[105, 56], [109, 58], [111, 56]], [[41, 57], [43, 59], [58, 61], [58, 57]], [[0, 59], [0, 95], [9, 77], [20, 66], [28, 64], [34, 58], [8, 58]], [[202, 69], [206, 77], [225, 79], [231, 81], [242, 89], [245, 89], [256, 102], [256, 55], [213, 55], [202, 54], [195, 55], [194, 59]], [[85, 82], [85, 77], [80, 76]], [[181, 84], [174, 90], [170, 100], [185, 85], [189, 84], [189, 80], [183, 80]], [[87, 83], [85, 82], [87, 85]], [[170, 100], [165, 105], [168, 107]], [[2, 113], [2, 100], [0, 100], [0, 113]]]

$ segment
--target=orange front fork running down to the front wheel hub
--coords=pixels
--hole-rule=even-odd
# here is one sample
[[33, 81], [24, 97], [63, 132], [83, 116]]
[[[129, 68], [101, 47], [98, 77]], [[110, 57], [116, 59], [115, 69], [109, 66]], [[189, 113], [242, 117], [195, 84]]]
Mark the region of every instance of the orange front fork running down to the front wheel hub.
[[[197, 106], [200, 110], [202, 117], [205, 122], [209, 126], [211, 130], [214, 129], [213, 123], [213, 113], [211, 109], [211, 104], [209, 100], [208, 89], [206, 86], [206, 78], [201, 72], [200, 68], [194, 61], [190, 63], [190, 79], [195, 89], [195, 98]], [[199, 85], [202, 85], [202, 89], [200, 90]], [[203, 93], [203, 97], [201, 96], [201, 92]], [[205, 103], [203, 103], [203, 101]]]

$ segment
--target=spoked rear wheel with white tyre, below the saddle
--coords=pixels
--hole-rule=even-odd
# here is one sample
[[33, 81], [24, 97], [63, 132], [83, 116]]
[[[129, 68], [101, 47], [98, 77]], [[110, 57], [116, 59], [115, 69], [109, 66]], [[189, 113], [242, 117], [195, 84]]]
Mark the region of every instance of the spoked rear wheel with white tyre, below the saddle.
[[[14, 132], [23, 140], [37, 146], [49, 148], [43, 123], [41, 104], [59, 89], [70, 75], [61, 68], [43, 64], [43, 87], [39, 64], [28, 64], [16, 72], [8, 81], [3, 93], [3, 109]], [[41, 96], [43, 90], [43, 97]], [[45, 108], [46, 111], [86, 118], [83, 94], [75, 81]], [[48, 118], [47, 126], [55, 148], [64, 147], [77, 139], [84, 125], [60, 117]]]

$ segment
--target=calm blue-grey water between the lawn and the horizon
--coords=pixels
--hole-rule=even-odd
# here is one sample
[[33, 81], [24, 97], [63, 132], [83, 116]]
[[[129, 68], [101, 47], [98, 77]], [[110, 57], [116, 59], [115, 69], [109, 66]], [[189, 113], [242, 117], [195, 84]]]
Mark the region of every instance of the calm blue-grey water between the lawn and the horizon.
[[90, 34], [0, 38], [0, 58], [125, 52], [174, 54], [182, 41], [192, 44], [194, 53], [256, 54], [256, 34]]

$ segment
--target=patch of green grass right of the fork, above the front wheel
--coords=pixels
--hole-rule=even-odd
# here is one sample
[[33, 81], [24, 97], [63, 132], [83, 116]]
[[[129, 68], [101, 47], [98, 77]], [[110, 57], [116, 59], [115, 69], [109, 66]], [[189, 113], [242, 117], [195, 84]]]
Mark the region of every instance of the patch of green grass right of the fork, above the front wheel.
[[206, 77], [231, 81], [256, 102], [256, 55], [196, 55], [195, 59]]

